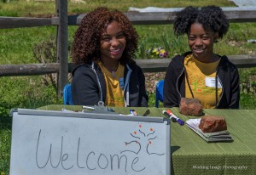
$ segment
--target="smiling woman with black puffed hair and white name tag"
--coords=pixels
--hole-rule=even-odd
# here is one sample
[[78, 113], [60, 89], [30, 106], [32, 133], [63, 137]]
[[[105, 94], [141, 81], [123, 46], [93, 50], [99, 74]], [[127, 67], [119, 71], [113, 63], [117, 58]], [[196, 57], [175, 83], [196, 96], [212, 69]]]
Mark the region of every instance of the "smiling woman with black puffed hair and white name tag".
[[200, 99], [205, 109], [239, 108], [239, 75], [226, 56], [213, 51], [213, 45], [229, 29], [221, 8], [187, 7], [177, 12], [173, 29], [188, 36], [190, 51], [175, 56], [166, 71], [164, 106], [179, 106], [180, 99]]

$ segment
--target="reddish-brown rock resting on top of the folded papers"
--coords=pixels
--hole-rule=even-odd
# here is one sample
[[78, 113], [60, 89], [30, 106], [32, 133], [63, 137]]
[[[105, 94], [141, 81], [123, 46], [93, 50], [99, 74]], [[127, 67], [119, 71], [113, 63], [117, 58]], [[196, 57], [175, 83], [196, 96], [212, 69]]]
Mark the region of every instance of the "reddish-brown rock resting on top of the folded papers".
[[227, 124], [224, 117], [221, 116], [203, 116], [199, 128], [204, 133], [212, 133], [227, 130]]

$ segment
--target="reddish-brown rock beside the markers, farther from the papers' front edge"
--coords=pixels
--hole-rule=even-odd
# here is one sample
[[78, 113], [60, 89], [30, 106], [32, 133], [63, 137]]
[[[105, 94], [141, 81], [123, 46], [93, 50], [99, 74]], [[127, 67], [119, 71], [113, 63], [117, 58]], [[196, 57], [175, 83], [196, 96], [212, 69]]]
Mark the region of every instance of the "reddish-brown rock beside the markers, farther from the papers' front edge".
[[202, 116], [203, 108], [199, 99], [182, 98], [179, 104], [179, 112], [186, 116]]

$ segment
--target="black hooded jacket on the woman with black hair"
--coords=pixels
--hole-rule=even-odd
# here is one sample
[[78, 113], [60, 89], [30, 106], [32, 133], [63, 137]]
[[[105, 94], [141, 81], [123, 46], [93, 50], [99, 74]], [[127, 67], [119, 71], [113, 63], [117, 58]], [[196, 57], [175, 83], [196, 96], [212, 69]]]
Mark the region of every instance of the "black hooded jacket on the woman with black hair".
[[[178, 107], [180, 99], [185, 97], [185, 68], [183, 63], [188, 54], [191, 54], [191, 52], [175, 56], [167, 68], [164, 84], [165, 107]], [[238, 109], [240, 88], [236, 65], [232, 64], [226, 56], [220, 57], [217, 76], [222, 84], [223, 91], [216, 108]]]

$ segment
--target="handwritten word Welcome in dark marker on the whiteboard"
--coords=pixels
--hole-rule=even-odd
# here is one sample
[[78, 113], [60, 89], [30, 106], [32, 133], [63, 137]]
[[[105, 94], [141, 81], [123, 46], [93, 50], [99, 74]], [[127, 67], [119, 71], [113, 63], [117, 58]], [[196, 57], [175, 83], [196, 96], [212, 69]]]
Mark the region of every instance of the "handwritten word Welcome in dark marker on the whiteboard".
[[[36, 164], [37, 167], [40, 169], [43, 168], [62, 168], [63, 170], [71, 170], [75, 168], [79, 169], [86, 169], [88, 171], [96, 171], [96, 170], [122, 170], [124, 172], [127, 171], [133, 171], [133, 172], [142, 172], [146, 169], [146, 167], [142, 167], [138, 165], [138, 161], [140, 160], [139, 157], [130, 157], [127, 155], [119, 155], [119, 154], [113, 154], [113, 155], [105, 155], [103, 153], [97, 153], [93, 150], [89, 151], [86, 156], [81, 156], [82, 150], [80, 150], [80, 144], [81, 144], [81, 138], [78, 138], [78, 144], [76, 151], [73, 153], [70, 153], [71, 151], [64, 151], [65, 144], [65, 138], [61, 136], [61, 143], [59, 145], [53, 145], [49, 144], [49, 151], [47, 151], [47, 154], [45, 153], [45, 150], [40, 149], [40, 145], [42, 144], [40, 141], [41, 139], [41, 129], [38, 133], [38, 141], [37, 141], [37, 151], [36, 151]], [[58, 156], [56, 157], [56, 154], [53, 154], [53, 147], [59, 148], [57, 150]], [[55, 150], [56, 151], [56, 150]], [[72, 154], [72, 155], [71, 155]], [[75, 155], [73, 155], [75, 154]], [[121, 153], [120, 153], [121, 154]], [[41, 156], [39, 156], [41, 155]], [[46, 155], [46, 156], [43, 156]], [[69, 156], [75, 156], [76, 159], [69, 159]], [[131, 159], [131, 160], [129, 160]], [[55, 162], [55, 163], [54, 163]], [[121, 169], [121, 167], [123, 169]]]

